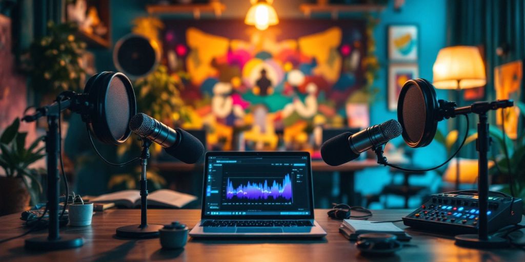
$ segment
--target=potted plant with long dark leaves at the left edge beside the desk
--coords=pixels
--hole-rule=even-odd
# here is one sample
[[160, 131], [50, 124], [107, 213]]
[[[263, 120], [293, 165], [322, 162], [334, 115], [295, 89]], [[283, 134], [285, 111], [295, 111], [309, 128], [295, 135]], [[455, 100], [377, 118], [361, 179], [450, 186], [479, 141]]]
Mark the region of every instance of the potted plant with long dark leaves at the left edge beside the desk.
[[18, 132], [18, 118], [0, 136], [0, 167], [5, 177], [0, 177], [0, 215], [23, 211], [38, 202], [42, 187], [38, 180], [40, 170], [29, 168], [31, 163], [43, 158], [44, 147], [39, 137], [26, 148], [26, 132]]

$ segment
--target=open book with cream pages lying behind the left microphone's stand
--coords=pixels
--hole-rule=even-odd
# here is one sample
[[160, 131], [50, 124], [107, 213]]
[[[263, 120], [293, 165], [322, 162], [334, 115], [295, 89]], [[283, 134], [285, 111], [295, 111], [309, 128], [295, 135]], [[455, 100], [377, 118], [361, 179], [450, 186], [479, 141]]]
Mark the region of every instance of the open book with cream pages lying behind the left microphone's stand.
[[[196, 200], [197, 197], [170, 189], [160, 189], [148, 194], [148, 206], [161, 208], [182, 208], [186, 204]], [[136, 208], [140, 206], [140, 190], [123, 190], [119, 192], [103, 194], [91, 200], [95, 203], [113, 202], [117, 206]]]

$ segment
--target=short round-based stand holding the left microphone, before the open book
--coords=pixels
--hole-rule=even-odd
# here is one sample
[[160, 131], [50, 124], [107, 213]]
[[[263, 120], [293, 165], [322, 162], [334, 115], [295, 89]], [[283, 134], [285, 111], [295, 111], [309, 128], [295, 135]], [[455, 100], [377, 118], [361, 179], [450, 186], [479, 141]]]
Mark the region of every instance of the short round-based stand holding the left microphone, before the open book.
[[142, 153], [140, 156], [140, 225], [121, 226], [117, 228], [117, 236], [126, 238], [152, 238], [159, 236], [159, 230], [163, 225], [148, 224], [148, 180], [146, 179], [146, 167], [150, 158], [151, 140], [142, 138]]

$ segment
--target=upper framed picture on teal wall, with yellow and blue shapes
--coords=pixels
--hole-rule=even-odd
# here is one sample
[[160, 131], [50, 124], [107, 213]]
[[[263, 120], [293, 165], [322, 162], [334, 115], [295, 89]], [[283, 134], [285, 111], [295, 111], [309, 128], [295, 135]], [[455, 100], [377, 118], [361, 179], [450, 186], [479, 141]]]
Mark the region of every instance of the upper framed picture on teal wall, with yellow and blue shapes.
[[388, 59], [393, 61], [416, 61], [418, 36], [415, 25], [393, 25], [388, 27]]

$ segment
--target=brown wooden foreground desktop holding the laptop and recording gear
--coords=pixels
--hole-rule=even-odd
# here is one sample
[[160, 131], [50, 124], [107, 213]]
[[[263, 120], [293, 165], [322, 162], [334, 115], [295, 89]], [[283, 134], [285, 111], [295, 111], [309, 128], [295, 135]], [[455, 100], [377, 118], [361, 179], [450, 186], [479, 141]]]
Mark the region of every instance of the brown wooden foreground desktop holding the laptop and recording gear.
[[[162, 250], [159, 239], [120, 239], [114, 236], [115, 228], [138, 223], [140, 210], [107, 210], [93, 216], [87, 227], [68, 227], [61, 234], [81, 234], [84, 246], [54, 252], [35, 252], [24, 249], [24, 239], [44, 232], [29, 234], [0, 245], [0, 261], [114, 261], [114, 260], [168, 260], [176, 261], [525, 261], [525, 252], [517, 249], [477, 250], [454, 245], [453, 237], [407, 230], [413, 236], [393, 257], [363, 257], [338, 233], [339, 221], [329, 219], [327, 210], [316, 210], [316, 220], [328, 232], [318, 240], [238, 240], [212, 241], [189, 239], [181, 250]], [[167, 224], [178, 220], [194, 226], [200, 210], [149, 210], [151, 223]], [[398, 220], [409, 210], [377, 210], [375, 221]], [[400, 227], [403, 224], [396, 223]], [[18, 215], [0, 217], [0, 238], [18, 235], [25, 231]]]

